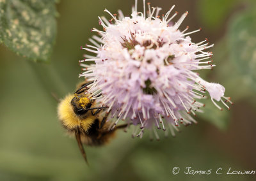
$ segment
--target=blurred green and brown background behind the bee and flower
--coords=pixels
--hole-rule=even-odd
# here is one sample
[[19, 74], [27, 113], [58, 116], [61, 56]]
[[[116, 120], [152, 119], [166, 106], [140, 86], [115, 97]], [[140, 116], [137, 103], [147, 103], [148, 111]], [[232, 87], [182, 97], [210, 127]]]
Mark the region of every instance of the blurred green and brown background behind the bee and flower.
[[[21, 7], [19, 1], [30, 2], [5, 1], [18, 2], [17, 7]], [[5, 1], [0, 1], [0, 8], [4, 8], [1, 3]], [[141, 8], [142, 0], [139, 2]], [[256, 175], [225, 174], [230, 167], [256, 170], [255, 1], [150, 2], [163, 7], [162, 13], [173, 4], [180, 14], [189, 11], [180, 29], [187, 25], [190, 30], [203, 28], [191, 37], [194, 42], [208, 38], [215, 44], [211, 51], [217, 66], [200, 74], [225, 86], [226, 95], [235, 103], [232, 109], [220, 112], [206, 103], [206, 113], [198, 115], [198, 124], [182, 127], [176, 138], [161, 135], [160, 141], [150, 142], [147, 134], [143, 139], [132, 139], [131, 131], [120, 131], [106, 147], [86, 147], [90, 167], [86, 166], [76, 141], [65, 134], [57, 119], [57, 103], [51, 94], [63, 98], [74, 91], [81, 71], [78, 60], [84, 54], [80, 46], [88, 43], [90, 29], [99, 27], [97, 16], [108, 16], [104, 8], [113, 13], [120, 9], [129, 15], [134, 1], [62, 0], [55, 4], [56, 13], [54, 1], [49, 0], [51, 17], [35, 18], [43, 26], [44, 22], [53, 25], [53, 38], [47, 40], [52, 43], [56, 27], [50, 18], [57, 14], [56, 42], [53, 50], [46, 48], [49, 55], [52, 52], [51, 61], [42, 62], [47, 55], [36, 63], [28, 61], [0, 45], [0, 180], [255, 180]], [[19, 53], [12, 42], [4, 44]], [[30, 55], [32, 59], [35, 56]], [[211, 169], [212, 174], [186, 175], [189, 166], [193, 170]], [[173, 175], [174, 167], [180, 168], [178, 175]], [[214, 173], [218, 168], [223, 169], [222, 175]]]

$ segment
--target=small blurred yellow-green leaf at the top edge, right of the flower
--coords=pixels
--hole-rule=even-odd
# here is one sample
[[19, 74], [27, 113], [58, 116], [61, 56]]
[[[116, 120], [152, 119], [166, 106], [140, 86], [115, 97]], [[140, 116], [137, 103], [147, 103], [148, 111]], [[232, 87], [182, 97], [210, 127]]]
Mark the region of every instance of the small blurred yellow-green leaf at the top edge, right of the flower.
[[216, 30], [227, 19], [228, 13], [236, 6], [237, 0], [200, 0], [200, 20], [209, 30]]

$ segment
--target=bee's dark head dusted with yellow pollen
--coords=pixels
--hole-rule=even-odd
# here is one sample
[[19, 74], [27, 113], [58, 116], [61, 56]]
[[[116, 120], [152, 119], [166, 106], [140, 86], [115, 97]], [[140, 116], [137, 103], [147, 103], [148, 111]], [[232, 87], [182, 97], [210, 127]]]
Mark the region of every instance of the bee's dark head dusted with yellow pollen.
[[92, 101], [86, 96], [86, 94], [74, 94], [74, 98], [71, 100], [71, 105], [77, 115], [83, 115], [88, 112], [89, 108], [91, 108]]

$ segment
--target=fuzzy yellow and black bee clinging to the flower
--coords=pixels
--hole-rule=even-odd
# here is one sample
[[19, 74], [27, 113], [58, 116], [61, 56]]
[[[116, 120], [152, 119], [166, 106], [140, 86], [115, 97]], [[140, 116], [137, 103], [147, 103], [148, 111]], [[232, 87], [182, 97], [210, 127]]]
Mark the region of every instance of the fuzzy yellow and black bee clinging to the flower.
[[109, 129], [111, 123], [106, 122], [109, 113], [102, 112], [107, 107], [97, 106], [99, 103], [90, 99], [91, 94], [87, 92], [92, 83], [93, 81], [81, 83], [74, 94], [68, 94], [58, 105], [58, 118], [67, 132], [76, 137], [79, 150], [87, 164], [83, 144], [104, 145], [115, 136], [117, 129], [127, 127], [127, 124], [123, 124]]

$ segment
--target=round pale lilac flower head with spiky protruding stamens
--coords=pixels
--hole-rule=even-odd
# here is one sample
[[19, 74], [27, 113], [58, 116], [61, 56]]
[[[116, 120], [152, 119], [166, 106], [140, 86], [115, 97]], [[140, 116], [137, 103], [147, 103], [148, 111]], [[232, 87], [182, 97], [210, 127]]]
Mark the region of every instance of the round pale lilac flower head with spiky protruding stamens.
[[[230, 98], [224, 96], [225, 88], [218, 83], [209, 83], [200, 78], [195, 71], [212, 69], [213, 47], [207, 39], [193, 43], [189, 34], [201, 30], [183, 31], [179, 26], [188, 15], [184, 13], [172, 24], [174, 6], [163, 16], [161, 8], [150, 8], [146, 14], [145, 0], [143, 13], [137, 10], [137, 0], [132, 8], [131, 17], [124, 17], [122, 11], [110, 13], [111, 20], [99, 17], [99, 24], [104, 31], [93, 28], [99, 36], [92, 36], [84, 50], [96, 54], [85, 55], [81, 62], [85, 76], [94, 80], [88, 90], [90, 98], [97, 99], [102, 106], [108, 106], [111, 117], [116, 117], [113, 127], [120, 120], [139, 125], [134, 136], [142, 136], [145, 129], [152, 129], [158, 138], [156, 128], [170, 128], [172, 134], [177, 126], [196, 123], [192, 115], [202, 112], [204, 106], [198, 99], [206, 98], [209, 92], [212, 102], [220, 110], [216, 101], [221, 101], [227, 108]], [[83, 62], [95, 62], [84, 64]], [[223, 101], [224, 100], [224, 101]], [[160, 126], [161, 125], [161, 126]]]

